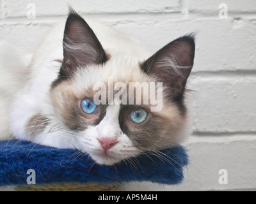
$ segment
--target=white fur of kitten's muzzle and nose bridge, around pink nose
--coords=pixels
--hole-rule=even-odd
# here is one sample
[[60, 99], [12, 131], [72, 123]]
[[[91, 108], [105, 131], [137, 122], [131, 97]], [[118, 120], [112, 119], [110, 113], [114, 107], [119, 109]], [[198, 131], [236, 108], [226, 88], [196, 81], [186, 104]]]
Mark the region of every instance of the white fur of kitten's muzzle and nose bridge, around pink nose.
[[[140, 152], [134, 147], [131, 140], [122, 133], [118, 122], [119, 110], [120, 105], [108, 106], [106, 116], [97, 126], [87, 128], [77, 135], [78, 149], [88, 152], [99, 164], [111, 165]], [[115, 138], [118, 142], [108, 150], [108, 156], [104, 156], [104, 151], [98, 141], [100, 138]]]

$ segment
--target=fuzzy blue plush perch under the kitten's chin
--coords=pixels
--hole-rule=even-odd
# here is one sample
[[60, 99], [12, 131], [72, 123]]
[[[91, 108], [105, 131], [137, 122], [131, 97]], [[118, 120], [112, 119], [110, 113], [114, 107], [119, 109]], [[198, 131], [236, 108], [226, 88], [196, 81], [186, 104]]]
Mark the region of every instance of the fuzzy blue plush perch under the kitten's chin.
[[0, 141], [0, 186], [27, 184], [29, 169], [35, 170], [36, 184], [131, 181], [179, 184], [183, 180], [182, 170], [188, 164], [186, 150], [179, 146], [161, 152], [160, 157], [141, 154], [131, 161], [104, 166], [87, 155], [76, 155], [77, 150], [4, 140]]

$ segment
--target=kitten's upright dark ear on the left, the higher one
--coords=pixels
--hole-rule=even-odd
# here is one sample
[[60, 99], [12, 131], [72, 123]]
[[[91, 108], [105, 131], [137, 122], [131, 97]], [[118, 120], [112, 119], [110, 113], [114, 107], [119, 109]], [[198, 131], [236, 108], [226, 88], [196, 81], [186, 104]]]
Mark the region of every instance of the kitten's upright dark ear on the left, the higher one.
[[106, 53], [92, 29], [72, 8], [65, 25], [63, 57], [60, 74], [65, 76], [72, 75], [79, 66], [107, 61]]

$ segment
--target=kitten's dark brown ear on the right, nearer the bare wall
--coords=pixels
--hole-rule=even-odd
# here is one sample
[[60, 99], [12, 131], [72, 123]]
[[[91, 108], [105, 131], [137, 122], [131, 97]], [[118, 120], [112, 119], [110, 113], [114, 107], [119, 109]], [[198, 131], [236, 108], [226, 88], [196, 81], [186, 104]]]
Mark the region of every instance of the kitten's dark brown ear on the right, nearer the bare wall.
[[170, 88], [170, 97], [183, 96], [186, 81], [193, 67], [195, 40], [193, 35], [178, 38], [157, 51], [141, 64], [148, 75], [157, 77], [159, 82]]

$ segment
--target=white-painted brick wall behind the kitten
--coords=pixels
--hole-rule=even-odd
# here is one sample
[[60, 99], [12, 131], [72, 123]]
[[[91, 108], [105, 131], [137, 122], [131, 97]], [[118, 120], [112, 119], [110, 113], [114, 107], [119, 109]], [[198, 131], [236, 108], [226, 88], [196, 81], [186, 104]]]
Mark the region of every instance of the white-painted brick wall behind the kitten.
[[[189, 88], [194, 89], [191, 164], [179, 186], [125, 184], [125, 190], [256, 190], [256, 1], [232, 0], [0, 0], [0, 38], [33, 52], [67, 3], [131, 34], [155, 51], [180, 35], [198, 32]], [[36, 18], [28, 19], [34, 3]], [[228, 6], [220, 19], [219, 4]], [[218, 180], [228, 172], [228, 184]]]

